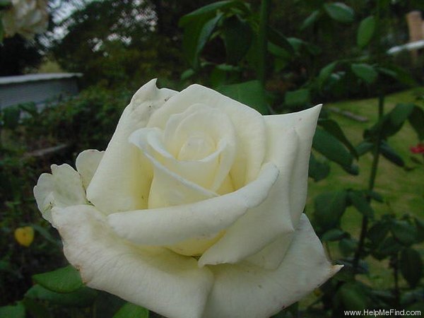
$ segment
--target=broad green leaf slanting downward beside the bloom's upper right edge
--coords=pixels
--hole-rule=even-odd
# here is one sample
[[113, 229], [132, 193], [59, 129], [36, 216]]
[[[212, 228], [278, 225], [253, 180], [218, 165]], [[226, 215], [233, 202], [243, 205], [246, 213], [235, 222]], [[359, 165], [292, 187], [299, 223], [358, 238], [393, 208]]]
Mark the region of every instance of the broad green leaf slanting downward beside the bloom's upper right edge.
[[324, 129], [318, 128], [315, 131], [312, 147], [329, 160], [343, 167], [352, 165], [353, 156], [351, 153], [346, 150], [343, 143]]

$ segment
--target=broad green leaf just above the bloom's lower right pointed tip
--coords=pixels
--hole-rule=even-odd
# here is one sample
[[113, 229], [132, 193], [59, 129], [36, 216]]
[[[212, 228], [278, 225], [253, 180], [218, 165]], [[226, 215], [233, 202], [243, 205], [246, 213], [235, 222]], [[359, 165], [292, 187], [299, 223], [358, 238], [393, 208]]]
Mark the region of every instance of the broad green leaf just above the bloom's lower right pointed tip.
[[314, 220], [324, 230], [335, 228], [346, 210], [346, 191], [324, 192], [315, 198]]

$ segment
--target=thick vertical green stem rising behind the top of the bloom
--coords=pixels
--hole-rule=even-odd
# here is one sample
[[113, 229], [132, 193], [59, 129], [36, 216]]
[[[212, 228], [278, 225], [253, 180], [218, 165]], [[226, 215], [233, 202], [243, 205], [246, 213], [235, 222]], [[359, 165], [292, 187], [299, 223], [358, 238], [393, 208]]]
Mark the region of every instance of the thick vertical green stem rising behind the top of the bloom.
[[258, 61], [258, 80], [262, 86], [265, 87], [266, 81], [266, 56], [268, 52], [268, 20], [269, 20], [269, 7], [270, 0], [262, 0], [261, 2], [261, 16], [259, 20], [259, 61]]

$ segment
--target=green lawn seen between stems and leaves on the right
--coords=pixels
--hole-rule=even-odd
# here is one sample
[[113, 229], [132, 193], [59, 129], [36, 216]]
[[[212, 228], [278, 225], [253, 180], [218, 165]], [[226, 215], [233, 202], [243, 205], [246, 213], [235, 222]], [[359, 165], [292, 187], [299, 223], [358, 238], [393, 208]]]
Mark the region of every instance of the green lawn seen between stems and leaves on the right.
[[[391, 110], [400, 102], [416, 103], [417, 90], [406, 90], [400, 93], [387, 95], [384, 105], [384, 112]], [[420, 105], [418, 103], [418, 105]], [[422, 105], [422, 102], [421, 102]], [[340, 110], [347, 110], [354, 114], [367, 117], [367, 122], [356, 122], [353, 119], [343, 117], [341, 114], [331, 113], [331, 118], [336, 120], [345, 132], [348, 139], [357, 145], [362, 140], [364, 129], [375, 124], [377, 120], [377, 99], [367, 100], [347, 100], [343, 102], [329, 103], [325, 107], [338, 107]], [[424, 124], [424, 123], [423, 123]], [[384, 203], [372, 203], [375, 209], [376, 218], [385, 213], [396, 213], [396, 216], [402, 216], [409, 213], [413, 216], [424, 218], [424, 166], [418, 166], [411, 161], [410, 146], [418, 143], [418, 136], [407, 122], [395, 136], [389, 139], [389, 145], [404, 158], [406, 167], [415, 167], [407, 171], [390, 163], [387, 159], [380, 157], [377, 179], [375, 182], [375, 191], [384, 196]], [[418, 157], [418, 155], [415, 155]], [[310, 179], [309, 193], [307, 200], [307, 214], [312, 216], [314, 210], [314, 197], [318, 194], [334, 189], [367, 189], [372, 155], [367, 153], [358, 161], [360, 174], [358, 176], [348, 175], [341, 167], [331, 163], [331, 173], [326, 179], [314, 182]], [[360, 224], [362, 216], [354, 208], [346, 210], [342, 218], [342, 228], [351, 232], [358, 238], [360, 233]], [[420, 252], [424, 256], [423, 246], [420, 246]], [[336, 246], [331, 246], [331, 257], [336, 259], [340, 255]], [[375, 288], [392, 288], [392, 273], [389, 271], [387, 262], [377, 261], [368, 258], [371, 275], [366, 279]]]

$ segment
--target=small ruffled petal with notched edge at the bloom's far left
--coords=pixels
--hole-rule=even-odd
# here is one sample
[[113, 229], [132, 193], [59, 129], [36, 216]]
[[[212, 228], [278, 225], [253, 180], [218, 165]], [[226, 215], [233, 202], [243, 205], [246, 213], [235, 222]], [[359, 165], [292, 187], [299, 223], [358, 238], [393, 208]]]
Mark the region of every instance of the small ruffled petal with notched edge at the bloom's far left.
[[35, 201], [42, 217], [52, 223], [52, 208], [86, 204], [81, 176], [70, 165], [52, 165], [52, 174], [43, 173], [34, 187]]

